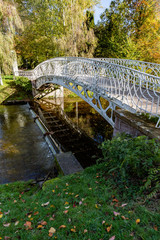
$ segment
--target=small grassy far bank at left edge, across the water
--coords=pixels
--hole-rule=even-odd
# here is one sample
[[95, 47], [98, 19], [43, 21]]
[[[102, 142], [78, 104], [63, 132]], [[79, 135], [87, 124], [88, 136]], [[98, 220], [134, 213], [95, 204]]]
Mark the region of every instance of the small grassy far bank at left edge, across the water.
[[22, 90], [15, 85], [13, 76], [3, 76], [3, 85], [0, 85], [0, 104], [12, 100], [26, 100], [31, 99], [31, 94]]

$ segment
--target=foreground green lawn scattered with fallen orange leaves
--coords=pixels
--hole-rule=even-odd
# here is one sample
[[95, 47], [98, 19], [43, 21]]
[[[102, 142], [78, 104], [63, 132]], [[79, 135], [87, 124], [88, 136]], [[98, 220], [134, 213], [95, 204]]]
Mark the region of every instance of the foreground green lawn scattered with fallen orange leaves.
[[47, 181], [43, 189], [31, 181], [1, 185], [0, 239], [159, 240], [158, 200], [122, 198], [105, 170], [105, 163], [97, 164]]

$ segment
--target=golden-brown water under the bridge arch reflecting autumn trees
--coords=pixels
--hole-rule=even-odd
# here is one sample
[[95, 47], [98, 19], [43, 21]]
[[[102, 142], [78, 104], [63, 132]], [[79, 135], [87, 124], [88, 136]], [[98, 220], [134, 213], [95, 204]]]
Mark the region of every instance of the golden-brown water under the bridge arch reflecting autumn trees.
[[105, 139], [111, 139], [112, 126], [88, 103], [81, 98], [58, 98], [39, 101], [44, 109], [54, 109], [56, 106], [62, 108], [73, 124], [83, 129], [89, 137], [98, 143]]

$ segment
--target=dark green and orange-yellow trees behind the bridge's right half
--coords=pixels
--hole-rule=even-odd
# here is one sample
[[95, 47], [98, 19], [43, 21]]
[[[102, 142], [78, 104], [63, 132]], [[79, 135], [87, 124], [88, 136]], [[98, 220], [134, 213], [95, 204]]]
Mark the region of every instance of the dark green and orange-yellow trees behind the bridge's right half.
[[95, 56], [160, 63], [158, 0], [115, 0], [96, 26]]

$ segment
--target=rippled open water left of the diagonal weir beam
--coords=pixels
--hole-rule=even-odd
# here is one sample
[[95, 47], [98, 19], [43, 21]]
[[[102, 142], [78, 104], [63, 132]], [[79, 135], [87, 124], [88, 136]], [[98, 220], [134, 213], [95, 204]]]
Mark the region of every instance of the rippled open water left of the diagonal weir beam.
[[53, 156], [28, 105], [0, 105], [0, 183], [43, 177]]

